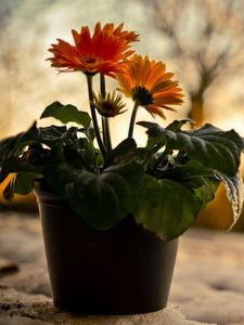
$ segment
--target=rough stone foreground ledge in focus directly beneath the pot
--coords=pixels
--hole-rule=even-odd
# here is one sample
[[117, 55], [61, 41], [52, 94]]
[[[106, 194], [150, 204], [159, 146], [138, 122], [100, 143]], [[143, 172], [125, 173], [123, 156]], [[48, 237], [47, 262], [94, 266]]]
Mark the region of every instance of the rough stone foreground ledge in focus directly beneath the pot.
[[[14, 298], [14, 299], [13, 299]], [[26, 295], [14, 289], [0, 288], [1, 324], [65, 324], [65, 325], [194, 325], [176, 307], [163, 311], [126, 316], [85, 316], [55, 309], [43, 295]], [[4, 314], [4, 315], [3, 315]], [[37, 323], [33, 323], [37, 321]], [[5, 323], [4, 323], [5, 322]], [[7, 323], [8, 322], [8, 323]], [[15, 322], [15, 323], [14, 323]]]

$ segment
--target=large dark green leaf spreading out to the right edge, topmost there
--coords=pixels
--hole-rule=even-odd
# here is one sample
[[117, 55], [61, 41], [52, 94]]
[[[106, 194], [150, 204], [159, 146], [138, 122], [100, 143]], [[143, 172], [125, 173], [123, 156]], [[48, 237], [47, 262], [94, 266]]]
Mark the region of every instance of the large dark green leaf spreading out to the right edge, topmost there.
[[244, 144], [234, 131], [222, 131], [211, 125], [193, 131], [164, 129], [156, 123], [140, 122], [153, 138], [165, 140], [168, 150], [185, 152], [189, 157], [227, 176], [234, 176], [240, 166]]

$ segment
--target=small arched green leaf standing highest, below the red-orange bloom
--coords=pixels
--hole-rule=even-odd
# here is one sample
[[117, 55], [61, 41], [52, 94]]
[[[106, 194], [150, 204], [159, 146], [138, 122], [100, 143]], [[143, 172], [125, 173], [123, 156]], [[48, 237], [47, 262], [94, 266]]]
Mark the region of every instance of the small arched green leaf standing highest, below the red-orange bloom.
[[78, 110], [77, 107], [70, 104], [63, 105], [60, 102], [54, 102], [46, 107], [40, 118], [46, 117], [54, 117], [63, 123], [76, 122], [85, 128], [88, 128], [91, 122], [91, 118], [87, 112]]

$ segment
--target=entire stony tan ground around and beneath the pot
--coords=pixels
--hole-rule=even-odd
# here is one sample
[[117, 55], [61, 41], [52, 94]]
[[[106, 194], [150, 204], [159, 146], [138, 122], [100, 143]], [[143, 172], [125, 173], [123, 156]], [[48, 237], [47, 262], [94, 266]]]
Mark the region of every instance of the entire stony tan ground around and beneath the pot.
[[39, 219], [1, 213], [0, 325], [244, 324], [244, 235], [182, 236], [169, 307], [156, 313], [78, 316], [57, 311], [50, 296]]

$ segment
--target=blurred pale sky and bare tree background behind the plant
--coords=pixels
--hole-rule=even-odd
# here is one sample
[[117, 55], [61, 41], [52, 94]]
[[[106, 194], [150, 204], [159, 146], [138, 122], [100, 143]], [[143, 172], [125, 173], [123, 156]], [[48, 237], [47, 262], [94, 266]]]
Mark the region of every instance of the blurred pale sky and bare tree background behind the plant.
[[[72, 41], [73, 28], [93, 29], [98, 21], [124, 22], [127, 30], [140, 35], [137, 52], [165, 62], [180, 80], [185, 103], [178, 113], [166, 112], [167, 120], [157, 120], [163, 126], [190, 117], [197, 125], [234, 128], [244, 136], [243, 8], [244, 0], [0, 0], [0, 139], [27, 129], [54, 101], [87, 110], [85, 77], [59, 75], [46, 58], [56, 38]], [[108, 86], [116, 87], [113, 80]], [[112, 120], [114, 144], [126, 136], [128, 115]], [[140, 119], [151, 116], [141, 109]], [[144, 131], [137, 129], [136, 138], [142, 144]], [[16, 196], [9, 204], [0, 197], [0, 212], [8, 209], [37, 211], [36, 200]], [[197, 224], [222, 230], [231, 216], [220, 186]], [[242, 219], [236, 230], [244, 231]]]

